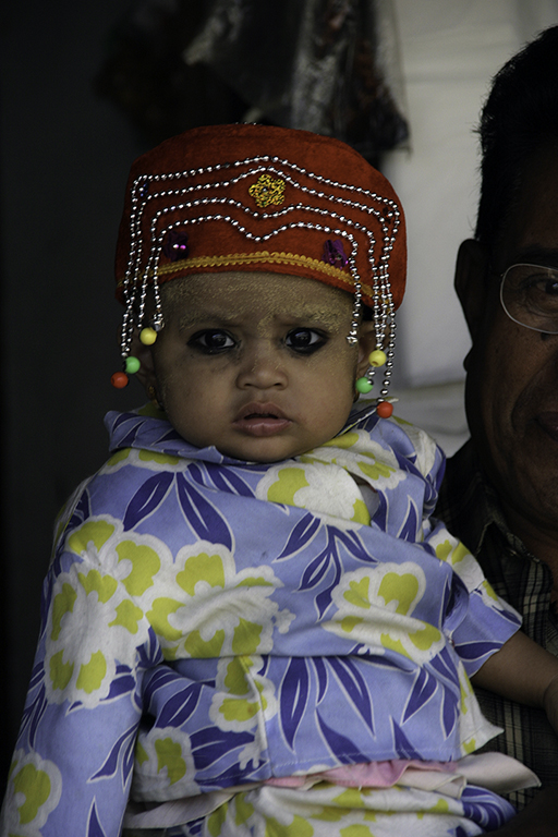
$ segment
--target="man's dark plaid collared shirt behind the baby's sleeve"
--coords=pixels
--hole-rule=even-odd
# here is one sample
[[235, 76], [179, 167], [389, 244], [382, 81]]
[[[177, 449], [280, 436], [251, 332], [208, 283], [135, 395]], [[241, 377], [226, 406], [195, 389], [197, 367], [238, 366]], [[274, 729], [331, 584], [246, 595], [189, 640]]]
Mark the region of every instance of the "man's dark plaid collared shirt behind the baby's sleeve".
[[[550, 605], [553, 575], [510, 532], [496, 494], [486, 482], [471, 441], [447, 463], [435, 515], [471, 549], [495, 591], [523, 617], [523, 630], [558, 656], [558, 620]], [[504, 733], [484, 749], [499, 750], [531, 767], [543, 785], [558, 781], [558, 738], [542, 709], [477, 690], [484, 714]], [[518, 791], [522, 808], [536, 790]]]

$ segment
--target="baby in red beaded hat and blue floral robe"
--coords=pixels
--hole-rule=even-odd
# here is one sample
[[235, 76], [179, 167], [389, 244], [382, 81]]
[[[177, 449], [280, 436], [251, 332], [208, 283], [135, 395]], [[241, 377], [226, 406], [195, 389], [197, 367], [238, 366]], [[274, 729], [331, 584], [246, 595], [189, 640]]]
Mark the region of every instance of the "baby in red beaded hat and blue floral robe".
[[390, 417], [404, 278], [393, 190], [335, 140], [134, 163], [112, 383], [151, 403], [59, 521], [2, 835], [458, 837], [536, 784], [473, 754], [469, 678], [558, 727], [558, 663], [429, 518], [442, 454]]

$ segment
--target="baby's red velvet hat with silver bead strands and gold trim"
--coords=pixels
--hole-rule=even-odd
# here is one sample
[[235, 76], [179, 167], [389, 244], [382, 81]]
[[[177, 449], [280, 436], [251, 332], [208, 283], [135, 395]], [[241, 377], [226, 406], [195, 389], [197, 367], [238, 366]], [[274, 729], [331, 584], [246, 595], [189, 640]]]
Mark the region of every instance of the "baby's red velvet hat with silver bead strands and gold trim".
[[353, 148], [307, 131], [210, 125], [167, 140], [133, 163], [126, 186], [116, 257], [123, 356], [147, 286], [157, 331], [161, 282], [229, 270], [302, 276], [353, 293], [354, 340], [361, 302], [379, 323], [403, 298], [399, 199]]

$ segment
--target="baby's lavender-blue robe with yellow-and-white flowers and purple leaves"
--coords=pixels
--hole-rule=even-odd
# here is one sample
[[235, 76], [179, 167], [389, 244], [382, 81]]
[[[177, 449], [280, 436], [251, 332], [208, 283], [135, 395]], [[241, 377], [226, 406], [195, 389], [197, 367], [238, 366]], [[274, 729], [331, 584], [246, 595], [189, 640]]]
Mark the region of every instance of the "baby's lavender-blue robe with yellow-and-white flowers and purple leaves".
[[[243, 793], [271, 798], [270, 778], [454, 761], [497, 733], [469, 676], [519, 619], [429, 519], [442, 454], [425, 434], [364, 411], [262, 464], [150, 408], [106, 422], [112, 456], [59, 521], [2, 834], [116, 837], [130, 797], [232, 798], [168, 834], [264, 835], [276, 814], [254, 824]], [[506, 805], [482, 791], [460, 810], [473, 830], [447, 833]]]

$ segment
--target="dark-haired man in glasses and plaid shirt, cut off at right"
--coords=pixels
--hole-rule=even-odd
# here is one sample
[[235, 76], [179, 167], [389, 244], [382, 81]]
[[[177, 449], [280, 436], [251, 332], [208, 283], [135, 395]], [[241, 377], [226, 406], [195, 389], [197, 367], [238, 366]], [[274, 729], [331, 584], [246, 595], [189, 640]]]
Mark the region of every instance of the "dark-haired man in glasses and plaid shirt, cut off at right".
[[[473, 342], [471, 440], [448, 462], [436, 513], [522, 614], [524, 631], [558, 655], [558, 26], [495, 77], [480, 133], [475, 239], [461, 245], [456, 272]], [[494, 747], [544, 786], [558, 783], [558, 739], [543, 713], [480, 698], [505, 729]], [[557, 834], [557, 789], [498, 834]], [[544, 805], [550, 830], [534, 830], [529, 817]]]

